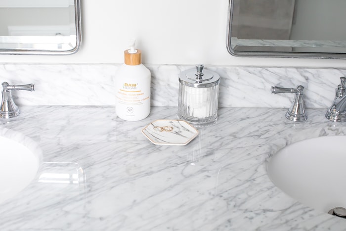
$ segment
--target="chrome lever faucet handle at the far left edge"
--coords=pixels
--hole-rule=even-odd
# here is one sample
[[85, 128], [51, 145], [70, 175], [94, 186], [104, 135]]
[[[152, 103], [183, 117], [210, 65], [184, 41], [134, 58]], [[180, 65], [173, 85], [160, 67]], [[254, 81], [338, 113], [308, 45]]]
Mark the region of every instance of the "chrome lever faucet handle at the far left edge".
[[11, 90], [25, 90], [25, 91], [35, 91], [34, 84], [27, 85], [9, 85], [7, 82], [2, 83], [2, 100], [0, 107], [0, 118], [11, 118], [16, 117], [20, 114], [18, 106], [14, 103], [12, 99]]

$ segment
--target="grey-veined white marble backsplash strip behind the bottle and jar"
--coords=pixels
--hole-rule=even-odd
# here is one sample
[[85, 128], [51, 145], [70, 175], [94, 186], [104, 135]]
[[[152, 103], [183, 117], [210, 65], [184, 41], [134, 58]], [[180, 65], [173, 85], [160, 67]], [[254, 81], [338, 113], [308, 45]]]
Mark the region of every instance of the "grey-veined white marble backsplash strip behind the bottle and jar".
[[[115, 105], [111, 64], [0, 64], [0, 83], [35, 84], [35, 92], [13, 91], [17, 104]], [[152, 74], [152, 106], [177, 106], [178, 75], [194, 68], [147, 65]], [[271, 94], [271, 86], [302, 85], [307, 108], [327, 108], [346, 70], [327, 68], [206, 66], [221, 76], [220, 107], [289, 107], [293, 94]]]

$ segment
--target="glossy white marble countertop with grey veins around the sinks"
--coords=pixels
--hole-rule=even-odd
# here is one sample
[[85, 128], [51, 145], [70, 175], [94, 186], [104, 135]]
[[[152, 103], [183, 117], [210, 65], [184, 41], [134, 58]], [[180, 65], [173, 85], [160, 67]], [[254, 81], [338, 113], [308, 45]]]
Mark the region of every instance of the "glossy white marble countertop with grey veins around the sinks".
[[[186, 146], [154, 145], [141, 134], [154, 120], [176, 119], [176, 107], [153, 107], [138, 122], [117, 118], [111, 106], [20, 109], [0, 121], [0, 131], [36, 142], [41, 166], [29, 186], [2, 202], [1, 231], [346, 229], [345, 219], [297, 202], [266, 173], [266, 160], [287, 144], [346, 134], [323, 109], [293, 123], [285, 109], [220, 108], [216, 124], [199, 128]], [[40, 181], [47, 172], [72, 179]]]

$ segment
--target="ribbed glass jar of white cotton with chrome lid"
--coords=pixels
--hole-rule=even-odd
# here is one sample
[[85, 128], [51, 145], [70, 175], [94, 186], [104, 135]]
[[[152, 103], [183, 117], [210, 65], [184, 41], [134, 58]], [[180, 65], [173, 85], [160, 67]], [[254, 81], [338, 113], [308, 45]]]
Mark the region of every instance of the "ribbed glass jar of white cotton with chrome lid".
[[194, 126], [213, 124], [217, 120], [220, 76], [203, 68], [203, 64], [197, 64], [196, 69], [179, 75], [178, 117]]

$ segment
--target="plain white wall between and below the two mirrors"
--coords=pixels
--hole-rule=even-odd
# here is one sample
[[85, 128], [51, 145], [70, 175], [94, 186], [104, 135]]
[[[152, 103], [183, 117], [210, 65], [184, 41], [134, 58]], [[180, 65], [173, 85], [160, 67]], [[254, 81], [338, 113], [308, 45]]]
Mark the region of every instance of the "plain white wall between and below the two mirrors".
[[228, 0], [81, 0], [83, 43], [68, 56], [0, 55], [0, 63], [122, 63], [136, 38], [146, 64], [346, 67], [346, 60], [239, 58], [226, 50]]

